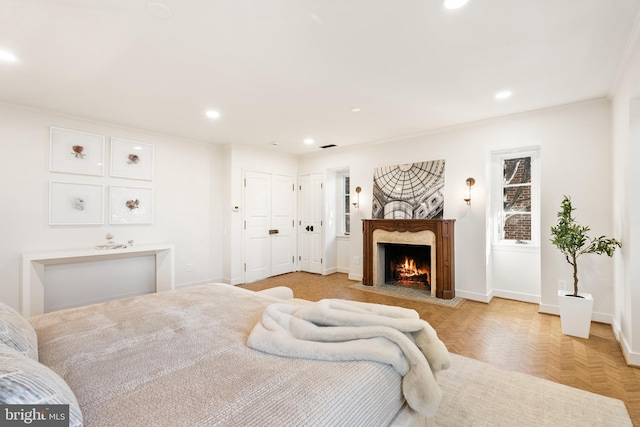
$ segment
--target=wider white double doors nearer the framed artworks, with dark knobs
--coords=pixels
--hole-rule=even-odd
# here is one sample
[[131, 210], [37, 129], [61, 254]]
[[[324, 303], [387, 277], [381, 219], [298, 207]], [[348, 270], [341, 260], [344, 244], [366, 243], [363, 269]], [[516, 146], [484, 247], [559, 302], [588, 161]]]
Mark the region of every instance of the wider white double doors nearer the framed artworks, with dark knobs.
[[247, 171], [244, 187], [245, 283], [294, 271], [293, 178]]

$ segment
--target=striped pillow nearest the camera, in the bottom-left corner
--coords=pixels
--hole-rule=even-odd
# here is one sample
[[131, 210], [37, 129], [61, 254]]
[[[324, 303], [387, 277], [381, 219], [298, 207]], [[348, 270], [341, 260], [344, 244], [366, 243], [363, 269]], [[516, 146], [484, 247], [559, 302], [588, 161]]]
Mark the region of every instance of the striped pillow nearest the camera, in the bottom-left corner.
[[42, 363], [2, 344], [0, 404], [68, 404], [69, 426], [82, 426], [82, 412], [69, 385]]

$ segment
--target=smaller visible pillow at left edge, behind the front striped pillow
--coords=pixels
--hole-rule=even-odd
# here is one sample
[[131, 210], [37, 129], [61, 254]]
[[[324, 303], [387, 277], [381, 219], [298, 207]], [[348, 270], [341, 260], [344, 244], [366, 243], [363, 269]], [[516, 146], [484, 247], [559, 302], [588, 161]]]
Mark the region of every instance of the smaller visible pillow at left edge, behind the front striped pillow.
[[3, 302], [0, 302], [0, 343], [38, 361], [38, 336], [33, 326]]

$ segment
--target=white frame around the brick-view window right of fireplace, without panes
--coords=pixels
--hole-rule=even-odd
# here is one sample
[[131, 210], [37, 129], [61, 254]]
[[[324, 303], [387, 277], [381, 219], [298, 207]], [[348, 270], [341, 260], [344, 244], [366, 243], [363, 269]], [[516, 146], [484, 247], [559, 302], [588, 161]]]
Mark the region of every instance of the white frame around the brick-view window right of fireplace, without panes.
[[[504, 177], [505, 160], [531, 157], [531, 240], [504, 239]], [[503, 247], [539, 247], [540, 246], [540, 147], [523, 147], [491, 152], [492, 199], [491, 218], [493, 222], [492, 241]]]

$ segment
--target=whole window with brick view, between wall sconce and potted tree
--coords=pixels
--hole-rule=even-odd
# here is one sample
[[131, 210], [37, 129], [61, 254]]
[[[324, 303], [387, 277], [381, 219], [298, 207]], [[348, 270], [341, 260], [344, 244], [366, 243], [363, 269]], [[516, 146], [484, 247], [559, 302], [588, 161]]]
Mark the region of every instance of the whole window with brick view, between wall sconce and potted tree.
[[494, 153], [495, 243], [538, 243], [538, 150]]

